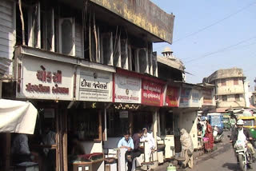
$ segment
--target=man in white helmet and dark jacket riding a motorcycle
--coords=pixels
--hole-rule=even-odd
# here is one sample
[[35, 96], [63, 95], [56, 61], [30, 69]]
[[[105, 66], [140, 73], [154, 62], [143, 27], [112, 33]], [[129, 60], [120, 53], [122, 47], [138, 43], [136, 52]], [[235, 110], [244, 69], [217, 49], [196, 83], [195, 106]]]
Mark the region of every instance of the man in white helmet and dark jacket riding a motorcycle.
[[250, 143], [251, 140], [253, 140], [253, 137], [250, 134], [250, 131], [243, 127], [244, 123], [242, 119], [239, 119], [237, 121], [237, 128], [234, 129], [231, 133], [230, 142], [232, 142], [232, 145], [234, 146], [236, 141], [247, 141], [246, 145], [248, 149], [250, 149], [250, 152], [255, 157], [255, 151], [253, 145]]

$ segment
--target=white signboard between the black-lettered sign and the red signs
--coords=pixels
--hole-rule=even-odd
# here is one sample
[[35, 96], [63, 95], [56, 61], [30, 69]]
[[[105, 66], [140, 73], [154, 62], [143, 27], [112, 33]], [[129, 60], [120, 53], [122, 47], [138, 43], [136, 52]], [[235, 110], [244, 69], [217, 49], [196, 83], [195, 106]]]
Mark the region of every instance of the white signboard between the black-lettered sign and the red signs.
[[133, 76], [114, 74], [114, 102], [142, 102], [142, 80]]

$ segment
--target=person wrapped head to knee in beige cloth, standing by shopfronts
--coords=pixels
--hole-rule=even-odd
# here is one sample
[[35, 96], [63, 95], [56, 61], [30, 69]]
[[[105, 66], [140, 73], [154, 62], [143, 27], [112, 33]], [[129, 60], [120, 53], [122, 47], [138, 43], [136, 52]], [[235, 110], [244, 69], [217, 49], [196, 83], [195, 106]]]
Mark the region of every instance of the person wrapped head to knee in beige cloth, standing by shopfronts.
[[193, 141], [189, 133], [186, 132], [186, 129], [181, 129], [181, 137], [182, 143], [182, 157], [185, 157], [186, 160], [183, 161], [183, 166], [186, 167], [188, 165], [191, 169], [193, 168]]

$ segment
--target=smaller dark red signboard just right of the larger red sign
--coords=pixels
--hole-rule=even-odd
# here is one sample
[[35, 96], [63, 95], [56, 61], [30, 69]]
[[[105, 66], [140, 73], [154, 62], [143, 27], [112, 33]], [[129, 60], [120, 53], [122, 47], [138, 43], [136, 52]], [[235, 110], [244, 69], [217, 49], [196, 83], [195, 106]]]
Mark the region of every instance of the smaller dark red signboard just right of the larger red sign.
[[178, 107], [178, 87], [167, 86], [166, 89], [166, 105], [170, 107]]

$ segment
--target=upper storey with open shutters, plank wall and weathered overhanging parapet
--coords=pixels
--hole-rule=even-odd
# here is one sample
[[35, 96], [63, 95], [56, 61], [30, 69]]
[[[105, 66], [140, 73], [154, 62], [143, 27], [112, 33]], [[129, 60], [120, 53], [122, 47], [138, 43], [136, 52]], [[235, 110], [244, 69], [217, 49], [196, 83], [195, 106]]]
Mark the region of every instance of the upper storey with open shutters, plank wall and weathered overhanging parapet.
[[157, 77], [152, 43], [172, 43], [174, 15], [149, 0], [21, 2], [0, 2], [0, 74], [8, 78], [17, 46]]

